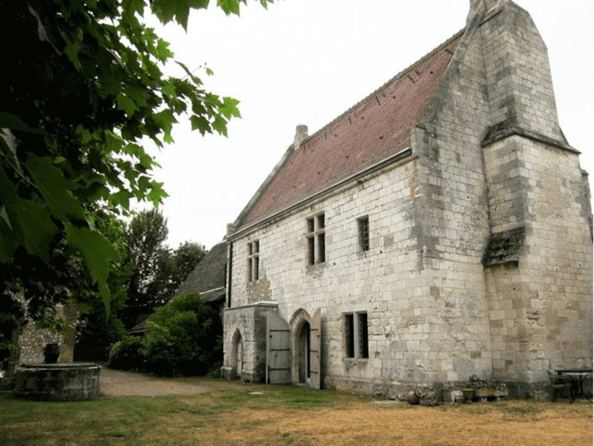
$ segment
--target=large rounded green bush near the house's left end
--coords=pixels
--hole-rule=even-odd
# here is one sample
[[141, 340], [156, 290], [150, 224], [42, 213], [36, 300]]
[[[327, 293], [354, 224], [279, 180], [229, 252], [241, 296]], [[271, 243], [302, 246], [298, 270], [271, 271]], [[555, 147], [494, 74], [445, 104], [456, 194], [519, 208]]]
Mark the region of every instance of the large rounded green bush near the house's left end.
[[222, 360], [220, 318], [198, 293], [176, 296], [149, 318], [141, 352], [155, 374], [205, 375]]

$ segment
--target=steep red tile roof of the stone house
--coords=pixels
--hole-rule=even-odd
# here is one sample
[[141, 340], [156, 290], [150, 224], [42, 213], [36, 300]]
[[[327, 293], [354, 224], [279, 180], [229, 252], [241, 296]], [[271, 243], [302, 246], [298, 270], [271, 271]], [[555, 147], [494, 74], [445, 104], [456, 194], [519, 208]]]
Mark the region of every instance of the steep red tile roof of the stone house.
[[274, 215], [410, 146], [463, 31], [390, 79], [291, 153], [238, 229]]

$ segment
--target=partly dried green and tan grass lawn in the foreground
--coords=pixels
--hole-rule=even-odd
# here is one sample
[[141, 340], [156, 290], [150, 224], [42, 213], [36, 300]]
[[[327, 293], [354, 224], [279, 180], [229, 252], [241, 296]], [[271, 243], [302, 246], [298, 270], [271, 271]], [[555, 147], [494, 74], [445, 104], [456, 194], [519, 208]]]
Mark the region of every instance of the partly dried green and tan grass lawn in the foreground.
[[48, 403], [0, 396], [0, 445], [592, 445], [587, 401], [377, 404], [250, 385], [169, 397]]

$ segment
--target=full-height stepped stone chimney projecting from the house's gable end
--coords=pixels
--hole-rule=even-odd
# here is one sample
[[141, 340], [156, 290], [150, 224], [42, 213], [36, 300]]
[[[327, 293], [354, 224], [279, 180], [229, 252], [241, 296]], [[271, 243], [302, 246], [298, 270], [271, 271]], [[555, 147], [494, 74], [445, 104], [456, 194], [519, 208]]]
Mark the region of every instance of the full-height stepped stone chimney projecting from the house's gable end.
[[490, 224], [493, 233], [526, 234], [517, 261], [485, 268], [494, 375], [548, 383], [549, 369], [592, 367], [589, 190], [559, 128], [547, 48], [531, 17], [508, 3], [487, 14], [480, 33]]

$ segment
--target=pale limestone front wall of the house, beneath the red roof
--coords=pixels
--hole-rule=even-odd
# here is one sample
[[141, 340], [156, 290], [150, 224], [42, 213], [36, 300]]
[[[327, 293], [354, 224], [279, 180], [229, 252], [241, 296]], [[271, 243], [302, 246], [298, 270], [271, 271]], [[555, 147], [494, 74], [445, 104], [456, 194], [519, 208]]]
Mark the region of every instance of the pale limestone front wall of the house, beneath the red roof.
[[[231, 309], [226, 310], [225, 330], [234, 330], [227, 317], [234, 307], [256, 300], [278, 302], [278, 312], [287, 322], [300, 309], [312, 316], [321, 308], [326, 380], [381, 379], [386, 369], [381, 356], [388, 354], [397, 327], [403, 344], [391, 345], [399, 349], [399, 355], [404, 356], [406, 341], [418, 344], [413, 339], [418, 337], [418, 327], [408, 325], [416, 321], [414, 289], [420, 289], [421, 281], [410, 278], [418, 254], [412, 249], [413, 222], [404, 210], [411, 205], [410, 179], [415, 170], [415, 162], [404, 163], [234, 240]], [[319, 213], [325, 217], [326, 261], [308, 266], [306, 219]], [[365, 215], [370, 222], [370, 250], [360, 252], [357, 219]], [[254, 240], [259, 240], [260, 279], [252, 283], [248, 280], [248, 243]], [[345, 312], [367, 312], [369, 359], [345, 360]], [[403, 323], [408, 325], [403, 327]], [[226, 341], [226, 354], [230, 348]]]

